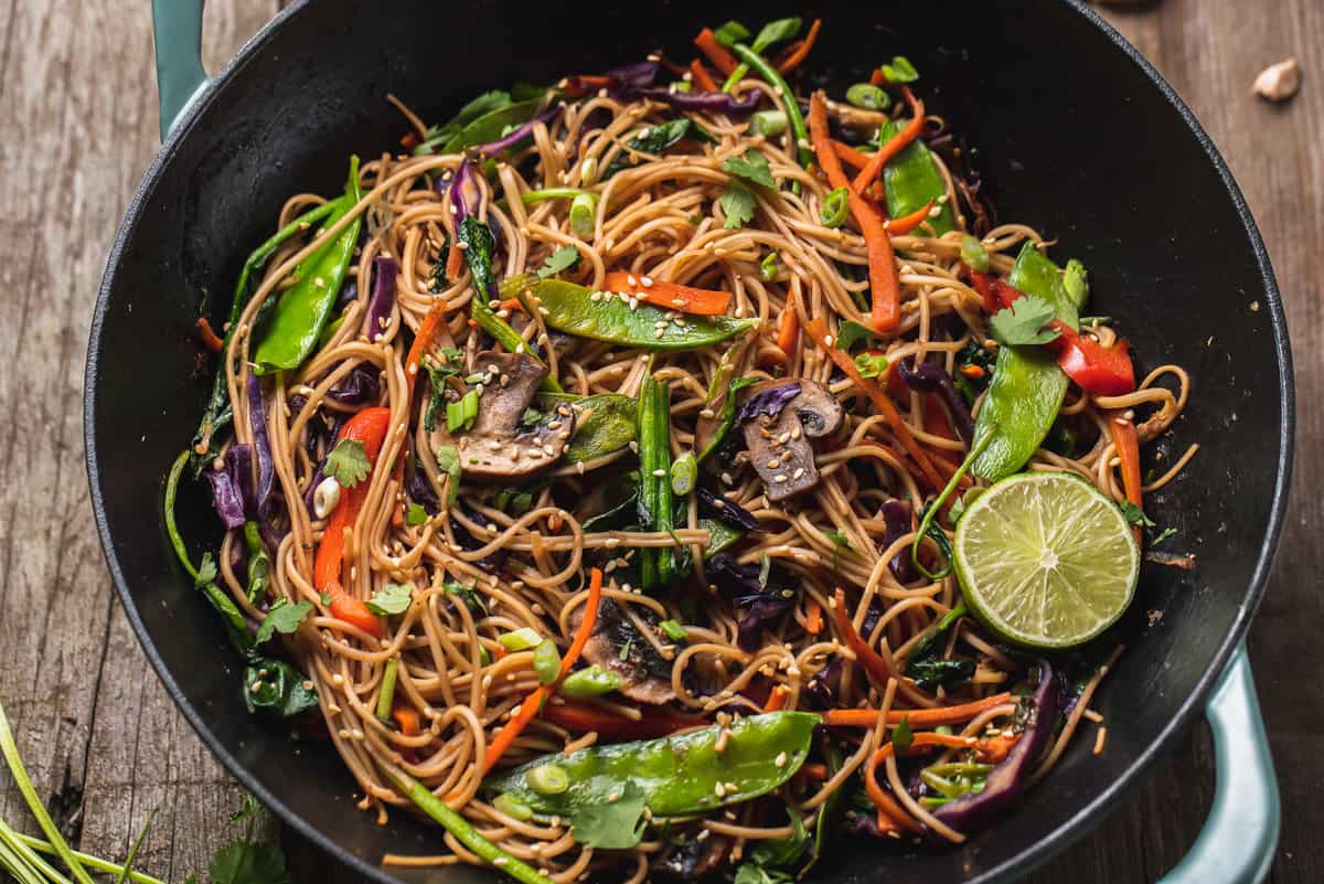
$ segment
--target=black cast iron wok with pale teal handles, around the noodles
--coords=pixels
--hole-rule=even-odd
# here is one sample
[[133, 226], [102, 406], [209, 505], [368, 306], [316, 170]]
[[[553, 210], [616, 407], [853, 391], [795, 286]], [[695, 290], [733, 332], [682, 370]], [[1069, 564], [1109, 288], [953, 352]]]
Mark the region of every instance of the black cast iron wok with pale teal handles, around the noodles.
[[[164, 541], [160, 476], [191, 437], [208, 385], [192, 333], [199, 306], [220, 315], [244, 257], [287, 195], [336, 191], [351, 151], [371, 156], [395, 146], [404, 124], [387, 91], [437, 120], [482, 90], [591, 73], [657, 46], [688, 57], [702, 24], [792, 12], [785, 3], [691, 0], [651, 9], [387, 5], [295, 3], [184, 112], [110, 254], [85, 414], [106, 556], [162, 680], [245, 786], [377, 881], [392, 879], [377, 867], [383, 852], [438, 852], [437, 830], [405, 814], [379, 827], [354, 807], [352, 779], [330, 748], [291, 742], [287, 728], [245, 712], [220, 626]], [[158, 24], [179, 26], [180, 11], [188, 19], [199, 7], [159, 0]], [[1237, 648], [1282, 524], [1294, 406], [1278, 290], [1227, 168], [1170, 87], [1082, 5], [896, 4], [865, 13], [822, 3], [796, 12], [825, 19], [810, 66], [838, 89], [892, 54], [915, 62], [931, 112], [980, 148], [1004, 217], [1034, 224], [1061, 240], [1057, 254], [1084, 261], [1094, 310], [1120, 319], [1143, 367], [1174, 361], [1192, 372], [1194, 397], [1164, 446], [1168, 457], [1189, 442], [1204, 446], [1178, 482], [1147, 502], [1160, 524], [1178, 528], [1172, 545], [1197, 553], [1198, 566], [1151, 565], [1143, 574], [1120, 630], [1129, 650], [1098, 701], [1111, 725], [1107, 752], [1094, 757], [1076, 741], [1051, 786], [961, 848], [853, 842], [814, 879], [939, 884], [1022, 873], [1098, 824], [1201, 712], [1229, 660], [1242, 660], [1210, 707], [1219, 753], [1242, 757], [1219, 775], [1211, 826], [1223, 828], [1206, 831], [1192, 863], [1169, 880], [1254, 880], [1272, 851], [1278, 802]], [[201, 77], [196, 25], [158, 40], [163, 98], [177, 110], [197, 85], [188, 74]], [[201, 496], [183, 504], [185, 535], [214, 539]], [[1164, 615], [1149, 627], [1145, 613], [1155, 609]], [[1238, 790], [1235, 801], [1229, 789]], [[1207, 876], [1202, 863], [1222, 871]], [[433, 880], [491, 875], [454, 868]]]

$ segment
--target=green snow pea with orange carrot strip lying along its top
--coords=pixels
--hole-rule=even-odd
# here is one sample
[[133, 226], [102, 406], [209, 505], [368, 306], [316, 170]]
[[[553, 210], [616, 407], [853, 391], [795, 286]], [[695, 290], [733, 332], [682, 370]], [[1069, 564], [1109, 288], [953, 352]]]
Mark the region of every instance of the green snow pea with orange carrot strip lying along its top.
[[[748, 319], [731, 316], [679, 318], [637, 302], [632, 308], [617, 294], [593, 291], [563, 279], [532, 281], [519, 298], [530, 310], [542, 308], [543, 322], [557, 331], [641, 349], [698, 349], [735, 337], [753, 326]], [[677, 324], [675, 319], [685, 324]]]

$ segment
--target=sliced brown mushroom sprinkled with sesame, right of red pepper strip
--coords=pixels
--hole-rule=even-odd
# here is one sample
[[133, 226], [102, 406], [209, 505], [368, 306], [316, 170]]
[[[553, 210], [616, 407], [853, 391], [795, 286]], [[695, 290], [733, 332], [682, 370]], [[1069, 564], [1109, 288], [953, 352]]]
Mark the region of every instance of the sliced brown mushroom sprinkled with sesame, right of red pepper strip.
[[559, 405], [539, 422], [524, 426], [547, 367], [527, 353], [485, 351], [474, 372], [486, 376], [478, 397], [474, 429], [451, 437], [444, 423], [432, 433], [432, 446], [453, 446], [466, 479], [510, 479], [551, 466], [575, 434], [575, 412]]

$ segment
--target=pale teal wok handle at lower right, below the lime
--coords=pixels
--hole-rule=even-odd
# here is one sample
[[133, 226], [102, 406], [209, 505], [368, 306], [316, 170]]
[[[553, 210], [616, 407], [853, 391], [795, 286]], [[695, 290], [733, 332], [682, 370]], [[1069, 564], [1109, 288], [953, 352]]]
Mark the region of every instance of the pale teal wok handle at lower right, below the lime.
[[1190, 851], [1158, 884], [1259, 884], [1274, 863], [1280, 809], [1245, 642], [1205, 716], [1214, 732], [1214, 803]]

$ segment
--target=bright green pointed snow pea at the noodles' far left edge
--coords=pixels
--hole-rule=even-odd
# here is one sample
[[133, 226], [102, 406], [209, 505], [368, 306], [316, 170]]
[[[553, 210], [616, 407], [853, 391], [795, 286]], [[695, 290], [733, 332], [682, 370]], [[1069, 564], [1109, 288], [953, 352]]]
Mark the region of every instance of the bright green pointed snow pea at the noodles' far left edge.
[[[352, 209], [359, 192], [359, 157], [350, 157], [350, 180], [340, 205], [327, 214], [322, 230], [327, 230]], [[281, 292], [271, 312], [271, 320], [262, 332], [253, 361], [258, 375], [298, 368], [308, 357], [322, 336], [331, 311], [335, 308], [354, 249], [359, 242], [361, 218], [355, 218], [330, 242], [303, 259], [295, 269], [298, 282]]]

